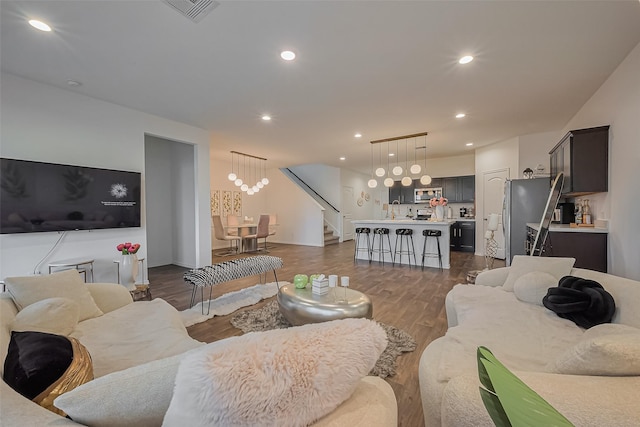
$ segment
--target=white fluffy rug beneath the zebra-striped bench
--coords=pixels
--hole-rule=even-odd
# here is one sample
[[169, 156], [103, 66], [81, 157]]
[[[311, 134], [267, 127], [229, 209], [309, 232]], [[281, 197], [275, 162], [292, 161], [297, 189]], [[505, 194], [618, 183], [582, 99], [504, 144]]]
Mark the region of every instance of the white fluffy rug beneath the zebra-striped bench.
[[[288, 282], [280, 282], [280, 286], [286, 285]], [[205, 289], [205, 294], [209, 290]], [[215, 289], [213, 290], [215, 293]], [[198, 293], [200, 293], [198, 291]], [[256, 304], [263, 299], [270, 298], [278, 293], [278, 285], [276, 282], [258, 284], [249, 288], [244, 288], [239, 291], [229, 292], [211, 300], [211, 308], [209, 314], [202, 314], [202, 305], [204, 304], [204, 312], [207, 312], [207, 306], [209, 301], [204, 303], [198, 303], [191, 308], [180, 312], [182, 323], [185, 326], [195, 325], [196, 323], [204, 322], [214, 316], [224, 316], [233, 313], [239, 308], [248, 307]]]

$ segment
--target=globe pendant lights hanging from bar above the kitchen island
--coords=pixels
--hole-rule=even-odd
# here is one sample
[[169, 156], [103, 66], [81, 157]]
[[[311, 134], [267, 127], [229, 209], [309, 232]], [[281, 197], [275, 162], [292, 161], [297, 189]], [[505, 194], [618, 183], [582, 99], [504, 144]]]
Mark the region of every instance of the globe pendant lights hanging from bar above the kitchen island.
[[[418, 147], [416, 144], [416, 140], [421, 137], [424, 137], [425, 143], [424, 143], [424, 146]], [[426, 139], [427, 139], [427, 132], [422, 132], [422, 133], [416, 133], [413, 135], [396, 136], [393, 138], [370, 141], [371, 142], [371, 179], [367, 183], [369, 188], [376, 188], [378, 186], [378, 181], [374, 177], [374, 175], [378, 178], [382, 178], [386, 176], [386, 178], [383, 180], [383, 184], [385, 187], [393, 186], [394, 180], [391, 177], [391, 175], [394, 175], [397, 177], [402, 176], [402, 179], [400, 182], [402, 183], [403, 186], [409, 187], [413, 183], [413, 178], [411, 177], [411, 175], [419, 175], [420, 172], [423, 172], [423, 175], [420, 176], [420, 184], [429, 185], [431, 183], [431, 177], [426, 174], [426, 170], [427, 170]], [[411, 165], [411, 167], [409, 167], [409, 148], [408, 148], [410, 145], [410, 140], [411, 142], [413, 142], [413, 164]], [[401, 145], [401, 141], [404, 142], [404, 169], [401, 166], [400, 155], [398, 151]], [[396, 149], [394, 154], [391, 154], [391, 152], [389, 151], [390, 142], [395, 142]], [[383, 144], [386, 144], [387, 146], [387, 169], [386, 170], [384, 168], [384, 162], [382, 161], [382, 145]], [[378, 160], [379, 160], [379, 166], [375, 169], [374, 169], [374, 145], [378, 146]], [[422, 166], [418, 164], [417, 155], [416, 155], [416, 151], [422, 148], [425, 149], [424, 171], [422, 169]], [[396, 164], [393, 167], [393, 169], [391, 168], [390, 161], [389, 161], [389, 157], [391, 155], [394, 155], [396, 159]]]

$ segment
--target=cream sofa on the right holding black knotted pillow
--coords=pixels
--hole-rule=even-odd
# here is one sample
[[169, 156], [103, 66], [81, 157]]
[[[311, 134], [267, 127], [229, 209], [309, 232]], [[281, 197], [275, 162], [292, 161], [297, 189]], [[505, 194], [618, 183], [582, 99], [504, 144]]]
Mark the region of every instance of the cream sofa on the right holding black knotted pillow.
[[[545, 259], [534, 262], [553, 262]], [[640, 282], [570, 269], [600, 283], [616, 303], [611, 324], [584, 330], [537, 303], [543, 286], [528, 295], [518, 282], [514, 290], [505, 286], [518, 277], [512, 268], [485, 271], [475, 285], [456, 285], [447, 294], [449, 329], [420, 359], [425, 425], [494, 425], [478, 391], [480, 345], [576, 426], [640, 425]]]

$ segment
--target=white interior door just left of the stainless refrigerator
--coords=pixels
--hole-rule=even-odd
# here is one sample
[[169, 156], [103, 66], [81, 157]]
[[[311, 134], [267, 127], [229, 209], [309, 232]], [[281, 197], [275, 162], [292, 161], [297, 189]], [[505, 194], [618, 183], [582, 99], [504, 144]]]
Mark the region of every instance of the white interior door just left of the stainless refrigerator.
[[[487, 233], [487, 225], [489, 223], [489, 214], [495, 213], [500, 216], [498, 230], [493, 234], [493, 238], [498, 244], [496, 258], [505, 258], [504, 231], [502, 228], [502, 203], [504, 198], [504, 183], [509, 179], [509, 168], [499, 169], [483, 174], [482, 187], [482, 244], [485, 245], [484, 236]], [[484, 250], [482, 251], [484, 253]]]

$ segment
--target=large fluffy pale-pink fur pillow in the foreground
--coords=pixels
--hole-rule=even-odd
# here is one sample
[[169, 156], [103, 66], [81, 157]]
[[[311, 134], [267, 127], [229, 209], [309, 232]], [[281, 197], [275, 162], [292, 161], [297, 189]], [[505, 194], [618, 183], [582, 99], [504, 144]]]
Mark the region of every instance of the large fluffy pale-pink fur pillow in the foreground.
[[180, 364], [166, 427], [305, 426], [348, 399], [387, 346], [367, 319], [249, 333]]

